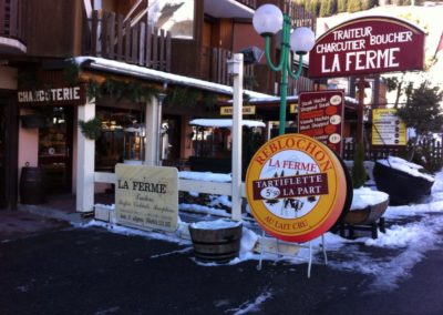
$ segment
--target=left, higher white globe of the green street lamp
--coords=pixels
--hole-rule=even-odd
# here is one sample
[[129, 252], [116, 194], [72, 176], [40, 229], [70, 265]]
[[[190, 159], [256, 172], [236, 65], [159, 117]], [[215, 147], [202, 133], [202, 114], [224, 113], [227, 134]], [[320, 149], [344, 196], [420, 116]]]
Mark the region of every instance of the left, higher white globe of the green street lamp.
[[284, 24], [284, 14], [281, 10], [274, 4], [260, 6], [253, 17], [253, 26], [260, 35], [272, 35], [281, 30]]

